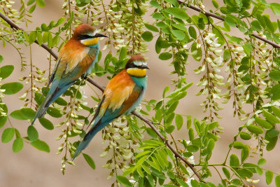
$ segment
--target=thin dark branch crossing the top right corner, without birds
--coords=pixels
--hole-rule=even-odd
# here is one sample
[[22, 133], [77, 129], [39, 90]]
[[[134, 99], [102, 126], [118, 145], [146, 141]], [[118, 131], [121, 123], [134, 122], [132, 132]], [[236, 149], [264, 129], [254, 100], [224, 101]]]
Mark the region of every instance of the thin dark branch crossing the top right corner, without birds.
[[[200, 12], [200, 13], [203, 13], [204, 15], [208, 16], [208, 17], [212, 17], [212, 18], [216, 18], [218, 20], [221, 20], [221, 21], [225, 21], [225, 18], [221, 17], [220, 15], [216, 15], [214, 13], [209, 13], [209, 12], [203, 12], [202, 9], [200, 8], [197, 8], [193, 5], [188, 5], [186, 4], [185, 2], [181, 1], [181, 0], [177, 0], [179, 2], [179, 4], [185, 4], [186, 6], [188, 6], [188, 8], [191, 8], [193, 9], [194, 11], [197, 11], [197, 12]], [[256, 39], [259, 39], [261, 41], [264, 41], [265, 43], [268, 43], [269, 45], [273, 46], [274, 48], [280, 48], [280, 45], [278, 45], [277, 43], [274, 43], [273, 41], [269, 41], [265, 38], [263, 38], [262, 36], [258, 36], [258, 34], [250, 34], [251, 36], [254, 36]]]

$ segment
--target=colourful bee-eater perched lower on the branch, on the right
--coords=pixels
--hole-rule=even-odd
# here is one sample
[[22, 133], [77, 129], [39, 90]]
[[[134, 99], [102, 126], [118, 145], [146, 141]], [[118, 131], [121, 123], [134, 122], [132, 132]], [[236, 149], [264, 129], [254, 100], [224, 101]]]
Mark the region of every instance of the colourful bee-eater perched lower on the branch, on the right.
[[144, 57], [135, 55], [128, 60], [125, 69], [109, 81], [92, 119], [94, 123], [78, 145], [73, 159], [90, 144], [99, 130], [123, 114], [130, 114], [140, 104], [147, 88], [146, 69], [149, 68]]

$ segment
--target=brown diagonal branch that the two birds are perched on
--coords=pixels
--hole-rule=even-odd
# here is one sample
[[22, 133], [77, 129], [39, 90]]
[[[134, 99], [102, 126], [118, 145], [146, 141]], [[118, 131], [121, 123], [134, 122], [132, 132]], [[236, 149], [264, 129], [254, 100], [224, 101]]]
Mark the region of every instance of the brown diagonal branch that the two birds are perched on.
[[[3, 18], [3, 20], [5, 20], [10, 27], [14, 28], [14, 29], [18, 29], [18, 30], [22, 30], [24, 31], [24, 29], [22, 29], [20, 26], [16, 25], [15, 22], [13, 22], [13, 20], [10, 20], [10, 18], [8, 18], [6, 15], [4, 15], [3, 13], [0, 12], [0, 17]], [[38, 41], [35, 41], [35, 43], [38, 44]], [[47, 50], [50, 55], [52, 55], [53, 57], [55, 57], [55, 59], [57, 60], [57, 55], [55, 54], [55, 52], [53, 50], [51, 50], [50, 48], [48, 48], [48, 46], [46, 46], [45, 44], [42, 44], [42, 46], [45, 50]], [[91, 78], [89, 77], [85, 77], [86, 81], [88, 81], [89, 83], [91, 83], [92, 85], [96, 86], [99, 90], [101, 90], [102, 92], [104, 92], [104, 88], [102, 87], [102, 85], [99, 85], [98, 83], [95, 83]], [[186, 165], [188, 165], [188, 167], [190, 167], [190, 169], [193, 170], [193, 172], [195, 173], [195, 175], [197, 176], [198, 179], [200, 179], [200, 181], [202, 181], [200, 174], [197, 173], [197, 171], [195, 170], [195, 168], [193, 167], [192, 164], [190, 164], [190, 162], [188, 162], [188, 160], [186, 160], [186, 158], [183, 158], [182, 155], [180, 155], [167, 141], [167, 139], [165, 139], [165, 137], [162, 136], [162, 134], [160, 134], [160, 132], [158, 131], [158, 129], [155, 127], [155, 125], [153, 125], [153, 122], [151, 122], [150, 120], [147, 120], [146, 118], [144, 118], [143, 116], [140, 116], [139, 113], [136, 112], [132, 112], [132, 114], [134, 116], [137, 116], [139, 119], [143, 120], [145, 123], [147, 123], [154, 131], [156, 134], [158, 134], [158, 136], [160, 137], [160, 139], [162, 139], [163, 142], [165, 142], [165, 144], [167, 145], [167, 147], [174, 153], [174, 155], [178, 158], [180, 158], [183, 162], [186, 163]]]

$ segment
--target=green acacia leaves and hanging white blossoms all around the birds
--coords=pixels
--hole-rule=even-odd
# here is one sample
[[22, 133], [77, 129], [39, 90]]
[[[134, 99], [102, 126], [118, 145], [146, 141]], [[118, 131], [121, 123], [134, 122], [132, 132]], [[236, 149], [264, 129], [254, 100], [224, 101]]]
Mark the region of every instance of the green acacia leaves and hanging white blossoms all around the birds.
[[[34, 30], [28, 25], [35, 8], [43, 8], [44, 0], [18, 2], [20, 10], [13, 9], [13, 1], [0, 1], [0, 11], [19, 25], [27, 27], [25, 31], [13, 29], [6, 20], [0, 21], [0, 39], [3, 47], [12, 45], [20, 55], [20, 66], [26, 76], [18, 82], [9, 81], [14, 65], [2, 66], [0, 127], [1, 141], [13, 141], [15, 153], [22, 150], [25, 144], [31, 144], [40, 151], [50, 152], [48, 143], [39, 139], [36, 126], [27, 127], [20, 132], [17, 125], [8, 123], [9, 118], [31, 120], [35, 110], [41, 104], [48, 90], [45, 85], [50, 69], [39, 69], [21, 52], [22, 47], [29, 47], [35, 42], [39, 46], [61, 48], [71, 36], [73, 27], [80, 22], [90, 22], [100, 27], [102, 33], [109, 36], [99, 54], [105, 56], [104, 62], [96, 64], [92, 73], [111, 78], [125, 66], [131, 55], [144, 54], [148, 49], [155, 50], [161, 64], [174, 67], [171, 74], [176, 75], [172, 86], [166, 85], [161, 99], [142, 102], [142, 109], [137, 112], [149, 118], [158, 132], [172, 143], [176, 151], [195, 165], [201, 181], [193, 176], [193, 171], [185, 162], [176, 157], [166, 142], [158, 137], [153, 128], [146, 126], [135, 116], [124, 116], [102, 130], [104, 147], [102, 157], [111, 169], [109, 177], [115, 177], [113, 185], [125, 186], [245, 186], [258, 183], [258, 175], [265, 175], [266, 183], [280, 186], [280, 175], [266, 169], [263, 150], [273, 151], [279, 137], [280, 123], [280, 59], [279, 30], [280, 21], [272, 20], [272, 15], [265, 14], [271, 9], [275, 15], [280, 14], [280, 4], [269, 4], [255, 0], [224, 0], [223, 4], [212, 0], [214, 9], [204, 7], [202, 1], [176, 0], [134, 0], [102, 1], [76, 0], [62, 2], [64, 15], [50, 23], [41, 23]], [[147, 15], [148, 9], [152, 10]], [[188, 11], [197, 11], [189, 15]], [[150, 16], [152, 22], [144, 18]], [[238, 29], [243, 37], [232, 34]], [[68, 38], [67, 38], [68, 37]], [[155, 40], [155, 46], [149, 41]], [[31, 50], [31, 48], [30, 48]], [[46, 53], [48, 54], [48, 53]], [[202, 112], [204, 118], [197, 120], [188, 113], [176, 113], [176, 106], [187, 97], [187, 89], [195, 85], [186, 81], [188, 60], [200, 63], [195, 74], [200, 81], [197, 95], [204, 95]], [[54, 57], [46, 57], [50, 67], [55, 63]], [[168, 61], [167, 61], [168, 60]], [[0, 62], [3, 57], [0, 54]], [[18, 65], [18, 64], [17, 64]], [[27, 69], [30, 68], [30, 69]], [[46, 130], [57, 130], [62, 127], [62, 134], [57, 141], [62, 144], [57, 154], [62, 154], [62, 173], [66, 164], [73, 165], [71, 156], [78, 145], [77, 137], [85, 136], [85, 129], [94, 113], [94, 107], [87, 106], [83, 97], [85, 81], [77, 81], [62, 97], [59, 97], [48, 109], [49, 116], [59, 118], [61, 123], [53, 125], [47, 118], [40, 118], [39, 123]], [[171, 90], [172, 88], [172, 90]], [[22, 92], [21, 108], [8, 110], [5, 95]], [[99, 102], [98, 94], [92, 99]], [[69, 99], [70, 98], [70, 99]], [[222, 163], [209, 162], [215, 144], [219, 141], [224, 124], [219, 124], [222, 117], [219, 111], [225, 103], [230, 102], [234, 109], [233, 116], [244, 122], [237, 127], [238, 133], [232, 137], [229, 148], [225, 147], [225, 160]], [[248, 106], [244, 110], [244, 106]], [[154, 111], [155, 115], [151, 113]], [[174, 139], [175, 130], [186, 126], [188, 136], [185, 139]], [[146, 132], [145, 140], [143, 133]], [[257, 146], [249, 146], [249, 142]], [[240, 150], [239, 155], [232, 153]], [[109, 152], [113, 156], [109, 156]], [[67, 154], [70, 153], [70, 154]], [[195, 154], [195, 156], [194, 156]], [[250, 157], [259, 156], [258, 162]], [[91, 156], [83, 153], [83, 158], [95, 168]], [[118, 175], [117, 175], [118, 172]], [[213, 172], [218, 172], [220, 180], [210, 183]], [[120, 174], [121, 173], [121, 174]], [[130, 180], [129, 180], [130, 179]]]

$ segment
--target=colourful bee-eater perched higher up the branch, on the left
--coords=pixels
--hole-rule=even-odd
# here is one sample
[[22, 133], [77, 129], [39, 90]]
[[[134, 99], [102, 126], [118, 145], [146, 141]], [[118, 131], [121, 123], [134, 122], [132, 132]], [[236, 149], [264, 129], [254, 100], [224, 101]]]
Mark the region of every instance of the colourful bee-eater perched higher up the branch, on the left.
[[36, 111], [32, 125], [36, 118], [45, 115], [48, 106], [52, 104], [60, 95], [80, 78], [91, 74], [94, 64], [98, 60], [100, 37], [107, 37], [98, 34], [97, 30], [88, 24], [82, 24], [76, 27], [73, 36], [67, 41], [60, 50], [55, 69], [48, 81], [50, 90], [45, 99]]

